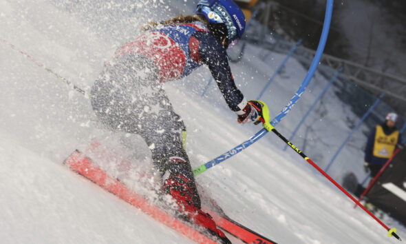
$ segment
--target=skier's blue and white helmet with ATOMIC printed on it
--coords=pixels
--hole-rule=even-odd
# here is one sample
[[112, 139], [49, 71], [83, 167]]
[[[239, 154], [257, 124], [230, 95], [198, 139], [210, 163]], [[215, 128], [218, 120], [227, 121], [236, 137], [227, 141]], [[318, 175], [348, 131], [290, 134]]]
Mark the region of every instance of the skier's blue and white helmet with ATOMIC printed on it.
[[197, 3], [195, 14], [204, 15], [210, 23], [224, 23], [230, 43], [244, 34], [244, 13], [232, 0], [201, 0]]

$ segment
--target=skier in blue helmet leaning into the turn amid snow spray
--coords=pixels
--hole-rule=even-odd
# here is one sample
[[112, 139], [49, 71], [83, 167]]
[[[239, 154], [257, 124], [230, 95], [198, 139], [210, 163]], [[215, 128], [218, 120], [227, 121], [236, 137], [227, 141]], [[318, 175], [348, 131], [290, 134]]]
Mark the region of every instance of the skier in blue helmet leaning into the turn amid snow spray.
[[[112, 130], [139, 134], [152, 152], [164, 192], [186, 218], [227, 242], [200, 210], [200, 197], [184, 150], [186, 128], [173, 111], [162, 83], [207, 65], [239, 123], [259, 123], [261, 103], [247, 101], [236, 87], [226, 49], [242, 37], [242, 10], [232, 0], [202, 0], [193, 16], [148, 23], [142, 34], [116, 51], [95, 81], [92, 107]], [[261, 120], [263, 121], [263, 120]]]

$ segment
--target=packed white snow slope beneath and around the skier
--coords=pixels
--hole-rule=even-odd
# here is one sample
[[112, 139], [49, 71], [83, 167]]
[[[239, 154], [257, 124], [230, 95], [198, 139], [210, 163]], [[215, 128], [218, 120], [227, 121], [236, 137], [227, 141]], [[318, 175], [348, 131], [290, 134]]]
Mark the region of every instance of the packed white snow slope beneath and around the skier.
[[[132, 7], [150, 8], [147, 3], [157, 4], [145, 1]], [[123, 6], [122, 1], [109, 4], [112, 9]], [[160, 4], [163, 7], [157, 9], [167, 9]], [[130, 7], [124, 12], [131, 13]], [[50, 72], [88, 90], [104, 61], [136, 33], [129, 28], [121, 37], [114, 32], [109, 36], [106, 30], [111, 26], [120, 33], [117, 28], [125, 24], [110, 19], [111, 26], [100, 27], [68, 10], [45, 0], [0, 1], [1, 242], [190, 243], [62, 165], [74, 149], [86, 148], [93, 139], [131, 159], [133, 167], [148, 167], [151, 161], [142, 139], [105, 130], [89, 100]], [[103, 22], [103, 14], [94, 18]], [[264, 63], [255, 58], [261, 50], [250, 50], [251, 56], [232, 66], [248, 99], [256, 97], [284, 59], [272, 54], [273, 62]], [[276, 92], [267, 98], [274, 115], [292, 96], [288, 87], [295, 90], [306, 75], [297, 61], [289, 62], [290, 76], [275, 84]], [[260, 129], [238, 125], [213, 84], [200, 96], [208, 81], [208, 70], [200, 68], [187, 79], [165, 85], [188, 128], [187, 151], [193, 167]], [[299, 103], [311, 104], [314, 96], [306, 92]], [[288, 116], [295, 116], [295, 109]], [[278, 243], [397, 243], [363, 210], [354, 210], [352, 201], [306, 161], [283, 152], [276, 136], [266, 137], [196, 177], [228, 216]], [[384, 221], [406, 236], [396, 221]]]

